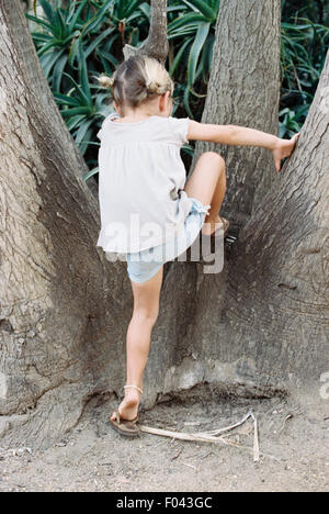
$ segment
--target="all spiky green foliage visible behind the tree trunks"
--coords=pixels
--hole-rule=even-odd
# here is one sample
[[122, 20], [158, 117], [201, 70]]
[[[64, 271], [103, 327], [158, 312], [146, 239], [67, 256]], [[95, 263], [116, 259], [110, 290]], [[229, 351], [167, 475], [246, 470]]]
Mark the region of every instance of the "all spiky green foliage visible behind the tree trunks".
[[[280, 135], [300, 130], [329, 46], [328, 0], [282, 0]], [[60, 112], [97, 172], [97, 133], [113, 111], [97, 76], [112, 75], [123, 46], [147, 37], [146, 0], [38, 0], [29, 12], [37, 55]], [[201, 120], [211, 74], [219, 0], [168, 0], [168, 69], [175, 82], [174, 113]], [[183, 147], [186, 156], [193, 147]]]

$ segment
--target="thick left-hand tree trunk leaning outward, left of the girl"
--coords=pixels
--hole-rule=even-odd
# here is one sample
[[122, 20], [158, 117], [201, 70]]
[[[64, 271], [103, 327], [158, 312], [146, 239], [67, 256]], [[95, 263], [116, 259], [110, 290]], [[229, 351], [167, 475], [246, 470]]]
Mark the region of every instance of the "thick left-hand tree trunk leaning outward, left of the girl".
[[0, 436], [48, 446], [122, 387], [133, 299], [95, 247], [99, 205], [19, 0], [0, 0]]

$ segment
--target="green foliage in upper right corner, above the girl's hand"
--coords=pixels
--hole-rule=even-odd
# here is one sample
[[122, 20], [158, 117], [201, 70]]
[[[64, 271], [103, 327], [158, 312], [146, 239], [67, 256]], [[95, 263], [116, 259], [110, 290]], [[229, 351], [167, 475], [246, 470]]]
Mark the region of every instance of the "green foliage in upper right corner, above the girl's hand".
[[328, 0], [282, 0], [280, 136], [299, 132], [329, 47]]

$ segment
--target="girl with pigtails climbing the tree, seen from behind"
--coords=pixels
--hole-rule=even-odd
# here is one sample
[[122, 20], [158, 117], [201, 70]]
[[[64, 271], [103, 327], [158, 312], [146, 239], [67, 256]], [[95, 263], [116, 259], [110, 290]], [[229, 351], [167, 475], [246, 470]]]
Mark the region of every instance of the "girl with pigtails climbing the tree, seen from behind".
[[100, 82], [112, 88], [116, 112], [98, 134], [102, 225], [97, 246], [109, 260], [127, 261], [134, 294], [125, 398], [110, 423], [122, 435], [135, 437], [163, 264], [182, 254], [200, 231], [214, 236], [228, 228], [219, 216], [226, 192], [224, 159], [214, 152], [203, 154], [185, 183], [181, 146], [191, 139], [260, 146], [272, 152], [280, 171], [298, 134], [286, 141], [252, 128], [172, 118], [173, 82], [158, 60], [143, 55], [128, 58], [113, 78], [101, 77]]

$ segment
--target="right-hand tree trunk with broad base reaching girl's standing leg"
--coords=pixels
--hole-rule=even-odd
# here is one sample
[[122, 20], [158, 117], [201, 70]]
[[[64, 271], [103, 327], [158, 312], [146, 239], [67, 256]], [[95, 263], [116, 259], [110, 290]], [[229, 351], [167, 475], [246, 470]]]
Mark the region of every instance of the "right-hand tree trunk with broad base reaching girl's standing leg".
[[202, 381], [257, 394], [320, 387], [329, 370], [328, 85], [329, 56], [298, 147], [226, 248], [223, 272], [171, 264], [162, 304], [172, 303], [154, 333], [150, 394], [162, 388], [152, 375], [160, 362], [164, 392]]

